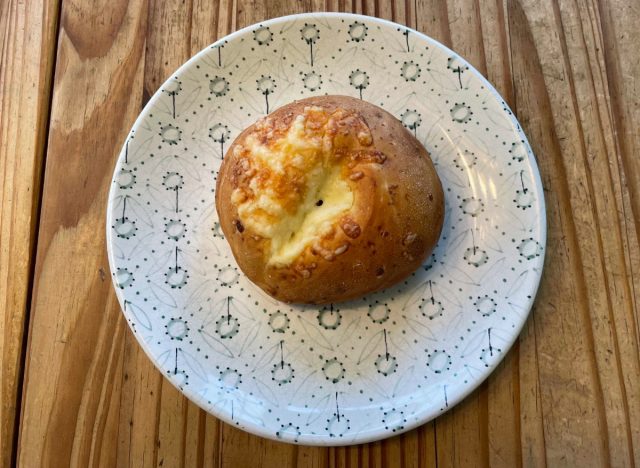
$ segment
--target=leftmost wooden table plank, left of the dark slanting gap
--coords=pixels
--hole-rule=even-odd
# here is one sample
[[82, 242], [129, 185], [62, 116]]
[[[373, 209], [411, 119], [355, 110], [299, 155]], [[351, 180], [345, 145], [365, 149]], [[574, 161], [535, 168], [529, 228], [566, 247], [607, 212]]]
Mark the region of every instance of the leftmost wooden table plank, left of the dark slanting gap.
[[15, 459], [58, 8], [0, 5], [0, 466]]

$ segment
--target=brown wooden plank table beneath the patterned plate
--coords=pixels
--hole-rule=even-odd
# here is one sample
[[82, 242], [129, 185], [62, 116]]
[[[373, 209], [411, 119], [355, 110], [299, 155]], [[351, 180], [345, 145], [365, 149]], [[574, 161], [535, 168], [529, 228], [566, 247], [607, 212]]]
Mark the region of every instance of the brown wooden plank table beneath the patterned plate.
[[[5, 0], [0, 5], [0, 460], [9, 466], [640, 465], [637, 0]], [[548, 217], [504, 362], [419, 429], [346, 448], [241, 432], [152, 366], [105, 247], [120, 145], [164, 79], [260, 20], [376, 15], [466, 57], [522, 123]]]

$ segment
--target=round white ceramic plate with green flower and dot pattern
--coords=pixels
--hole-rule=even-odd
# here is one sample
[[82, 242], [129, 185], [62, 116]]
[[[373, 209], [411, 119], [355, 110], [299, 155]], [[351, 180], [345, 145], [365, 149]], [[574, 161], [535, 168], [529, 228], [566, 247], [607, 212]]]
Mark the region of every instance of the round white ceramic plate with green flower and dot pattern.
[[[214, 206], [229, 142], [268, 109], [318, 94], [401, 119], [446, 195], [422, 268], [324, 308], [279, 303], [249, 282]], [[526, 138], [476, 70], [404, 26], [322, 13], [231, 34], [162, 85], [118, 159], [107, 235], [127, 321], [185, 395], [261, 436], [344, 445], [422, 424], [489, 375], [529, 313], [546, 221]]]

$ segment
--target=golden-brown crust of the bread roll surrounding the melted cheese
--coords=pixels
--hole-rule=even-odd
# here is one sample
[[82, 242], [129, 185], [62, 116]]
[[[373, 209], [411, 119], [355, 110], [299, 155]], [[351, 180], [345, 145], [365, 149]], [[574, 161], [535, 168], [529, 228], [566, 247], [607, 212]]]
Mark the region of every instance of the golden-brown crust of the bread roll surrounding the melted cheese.
[[[330, 133], [339, 153], [336, 164], [351, 188], [353, 206], [336, 219], [333, 232], [293, 262], [270, 264], [270, 240], [245, 227], [232, 202], [234, 191], [237, 201], [239, 192], [251, 193], [250, 179], [259, 177], [247, 163], [251, 154], [244, 145], [250, 135], [271, 144], [297, 115], [313, 120], [310, 106], [322, 108], [325, 123], [327, 115], [340, 117], [331, 120], [339, 122], [333, 133], [326, 125], [322, 131]], [[367, 141], [369, 132], [372, 141]], [[298, 185], [287, 189], [287, 183], [283, 196], [297, 191], [291, 187]], [[299, 201], [294, 196], [290, 208]], [[238, 136], [218, 174], [216, 208], [233, 255], [250, 280], [276, 299], [320, 304], [389, 287], [418, 268], [440, 236], [444, 195], [428, 153], [399, 120], [365, 101], [321, 96], [281, 107]]]

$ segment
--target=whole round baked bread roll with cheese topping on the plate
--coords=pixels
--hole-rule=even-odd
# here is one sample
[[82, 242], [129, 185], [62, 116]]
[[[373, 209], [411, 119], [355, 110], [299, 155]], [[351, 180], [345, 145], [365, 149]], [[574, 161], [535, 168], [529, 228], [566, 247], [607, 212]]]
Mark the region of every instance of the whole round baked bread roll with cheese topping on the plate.
[[247, 277], [284, 302], [353, 299], [410, 275], [435, 246], [444, 196], [424, 147], [347, 96], [288, 104], [243, 131], [216, 208]]

